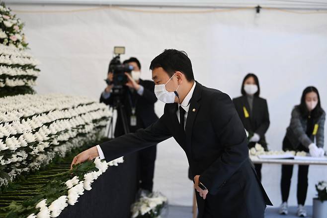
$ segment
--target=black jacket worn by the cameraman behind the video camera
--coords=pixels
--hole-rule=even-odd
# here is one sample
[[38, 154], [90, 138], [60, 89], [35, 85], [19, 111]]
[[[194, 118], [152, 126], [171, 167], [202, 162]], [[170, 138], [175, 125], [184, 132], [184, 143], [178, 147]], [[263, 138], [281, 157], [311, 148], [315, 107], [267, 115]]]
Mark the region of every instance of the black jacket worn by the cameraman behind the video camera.
[[[141, 79], [139, 84], [144, 87], [144, 91], [142, 96], [138, 95], [136, 92], [134, 93], [134, 98], [136, 98], [137, 101], [135, 114], [137, 116], [138, 122], [141, 122], [138, 123], [138, 127], [146, 128], [159, 119], [155, 113], [155, 103], [157, 102], [157, 97], [154, 93], [155, 84], [153, 81]], [[122, 103], [124, 106], [128, 123], [132, 114], [132, 106], [129, 100], [129, 95], [133, 95], [133, 93], [131, 93], [127, 86], [124, 86], [122, 94]], [[112, 106], [113, 101], [114, 98], [112, 96], [110, 96], [110, 98], [108, 99], [104, 99], [102, 97], [102, 94], [100, 96], [100, 103]], [[115, 137], [125, 134], [122, 117], [119, 112], [117, 114], [118, 115], [114, 132]]]

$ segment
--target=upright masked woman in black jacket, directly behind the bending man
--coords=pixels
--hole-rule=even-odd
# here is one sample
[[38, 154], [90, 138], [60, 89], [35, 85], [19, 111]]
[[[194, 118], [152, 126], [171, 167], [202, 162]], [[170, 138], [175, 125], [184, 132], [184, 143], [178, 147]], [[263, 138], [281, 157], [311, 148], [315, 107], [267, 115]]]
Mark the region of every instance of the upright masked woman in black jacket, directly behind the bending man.
[[[269, 127], [269, 112], [267, 101], [259, 97], [260, 87], [258, 78], [249, 73], [245, 76], [242, 88], [242, 96], [233, 99], [236, 110], [249, 134], [248, 147], [254, 147], [256, 143], [267, 150], [265, 133]], [[261, 181], [261, 164], [254, 164], [255, 171]]]

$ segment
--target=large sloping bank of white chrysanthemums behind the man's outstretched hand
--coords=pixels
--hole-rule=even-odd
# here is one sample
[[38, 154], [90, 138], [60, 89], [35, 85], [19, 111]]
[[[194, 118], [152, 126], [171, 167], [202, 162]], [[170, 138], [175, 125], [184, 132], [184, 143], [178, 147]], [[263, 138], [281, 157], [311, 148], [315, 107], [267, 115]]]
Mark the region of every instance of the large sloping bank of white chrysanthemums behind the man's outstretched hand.
[[19, 95], [2, 98], [0, 186], [21, 172], [49, 163], [55, 155], [65, 156], [79, 145], [71, 142], [77, 140], [76, 136], [100, 132], [99, 138], [104, 137], [103, 130], [110, 116], [104, 104], [84, 97]]

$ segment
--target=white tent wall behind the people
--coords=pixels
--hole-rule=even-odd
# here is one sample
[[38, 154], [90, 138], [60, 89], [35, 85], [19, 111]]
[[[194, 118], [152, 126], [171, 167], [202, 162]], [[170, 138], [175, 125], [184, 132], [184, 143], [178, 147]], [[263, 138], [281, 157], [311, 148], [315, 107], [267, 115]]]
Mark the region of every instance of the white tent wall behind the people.
[[[165, 48], [176, 48], [187, 52], [198, 82], [231, 98], [240, 96], [247, 72], [259, 77], [261, 97], [267, 99], [270, 113], [266, 134], [270, 149], [281, 149], [291, 110], [300, 102], [305, 87], [318, 88], [327, 110], [327, 13], [261, 9], [256, 15], [254, 9], [185, 13], [203, 9], [136, 7], [149, 11], [137, 12], [117, 7], [84, 10], [92, 7], [78, 5], [9, 6], [25, 22], [31, 52], [42, 62], [36, 87], [40, 94], [60, 92], [97, 99], [105, 88], [103, 79], [113, 46], [126, 46], [122, 59], [140, 59], [143, 79], [151, 79], [148, 69], [156, 55]], [[81, 11], [63, 11], [70, 9]], [[164, 13], [167, 10], [180, 12]], [[156, 103], [159, 116], [163, 108], [164, 104]], [[174, 139], [160, 143], [155, 190], [163, 192], [170, 204], [192, 204], [187, 170], [185, 154]], [[269, 197], [279, 205], [281, 167], [263, 165], [262, 174]], [[310, 166], [308, 205], [316, 195], [315, 183], [323, 179], [327, 180], [327, 167]], [[296, 185], [297, 167], [290, 205], [297, 205]]]

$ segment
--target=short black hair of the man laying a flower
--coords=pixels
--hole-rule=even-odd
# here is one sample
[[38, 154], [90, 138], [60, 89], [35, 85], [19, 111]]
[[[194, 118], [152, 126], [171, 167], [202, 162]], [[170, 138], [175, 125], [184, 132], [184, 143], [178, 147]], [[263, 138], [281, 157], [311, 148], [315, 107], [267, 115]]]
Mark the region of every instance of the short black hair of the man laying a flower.
[[194, 81], [191, 60], [186, 52], [176, 49], [165, 49], [163, 53], [155, 57], [150, 64], [150, 70], [162, 67], [170, 77], [176, 72], [182, 72], [188, 81]]

